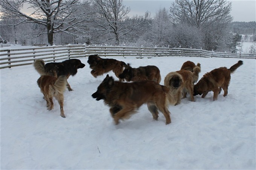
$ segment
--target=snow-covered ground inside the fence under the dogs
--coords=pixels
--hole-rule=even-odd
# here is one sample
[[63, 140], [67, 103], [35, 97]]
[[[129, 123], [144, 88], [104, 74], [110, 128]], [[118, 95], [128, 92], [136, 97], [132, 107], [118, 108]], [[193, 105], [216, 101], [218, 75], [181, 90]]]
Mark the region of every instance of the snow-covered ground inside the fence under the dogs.
[[[108, 106], [91, 97], [105, 78], [94, 78], [86, 64], [68, 82], [59, 105], [46, 109], [32, 65], [1, 69], [1, 169], [255, 169], [256, 60], [231, 75], [229, 94], [213, 102], [195, 96], [169, 106], [153, 121], [146, 105], [130, 119], [114, 125]], [[201, 63], [201, 73], [230, 68], [239, 59], [156, 57], [115, 58], [132, 67], [156, 65], [163, 80], [185, 61]], [[110, 75], [114, 76], [113, 73]], [[114, 76], [114, 79], [117, 78]]]

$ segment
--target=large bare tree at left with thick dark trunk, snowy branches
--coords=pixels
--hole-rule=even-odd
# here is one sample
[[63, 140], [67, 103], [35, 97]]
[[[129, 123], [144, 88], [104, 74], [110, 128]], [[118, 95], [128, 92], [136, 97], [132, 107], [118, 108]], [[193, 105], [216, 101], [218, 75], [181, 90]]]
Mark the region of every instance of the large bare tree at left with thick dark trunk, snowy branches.
[[[31, 15], [20, 11], [24, 3], [34, 9]], [[57, 32], [85, 33], [83, 22], [88, 19], [88, 14], [81, 12], [89, 2], [79, 0], [1, 0], [0, 12], [9, 19], [15, 19], [15, 25], [21, 23], [38, 23], [46, 27], [48, 43], [53, 44], [53, 34]], [[79, 17], [78, 17], [79, 16]], [[76, 32], [76, 33], [75, 33]]]

